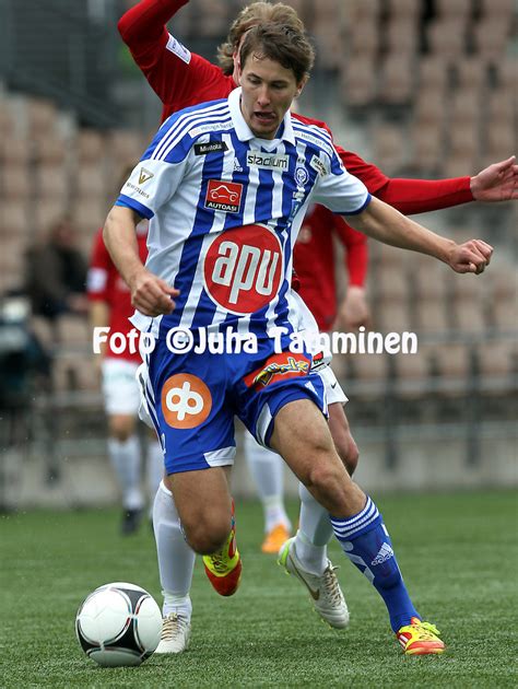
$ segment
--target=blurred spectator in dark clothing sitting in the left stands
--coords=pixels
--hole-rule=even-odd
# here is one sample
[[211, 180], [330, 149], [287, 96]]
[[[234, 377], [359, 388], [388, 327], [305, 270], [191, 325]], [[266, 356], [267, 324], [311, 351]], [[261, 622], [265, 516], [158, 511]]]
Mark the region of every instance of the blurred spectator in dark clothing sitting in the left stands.
[[58, 220], [47, 238], [27, 250], [25, 270], [33, 314], [50, 320], [64, 313], [86, 315], [86, 260], [70, 218]]

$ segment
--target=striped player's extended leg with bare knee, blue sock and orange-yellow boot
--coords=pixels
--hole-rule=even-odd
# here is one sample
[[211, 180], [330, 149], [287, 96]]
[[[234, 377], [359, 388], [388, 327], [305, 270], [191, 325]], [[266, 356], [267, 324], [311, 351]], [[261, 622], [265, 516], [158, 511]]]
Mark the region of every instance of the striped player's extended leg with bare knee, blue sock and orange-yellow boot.
[[410, 599], [381, 515], [345, 471], [318, 408], [305, 399], [283, 406], [270, 445], [328, 510], [343, 552], [384, 599], [405, 653], [442, 653], [443, 642]]

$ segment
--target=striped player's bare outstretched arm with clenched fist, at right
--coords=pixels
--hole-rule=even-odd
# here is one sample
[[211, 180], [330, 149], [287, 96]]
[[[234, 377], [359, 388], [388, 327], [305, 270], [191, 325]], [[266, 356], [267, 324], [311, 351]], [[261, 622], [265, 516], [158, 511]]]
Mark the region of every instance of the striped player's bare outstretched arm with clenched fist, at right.
[[488, 265], [493, 254], [493, 247], [481, 240], [456, 244], [405, 218], [376, 198], [372, 198], [358, 214], [348, 215], [348, 222], [384, 244], [438, 258], [456, 272], [479, 275]]

